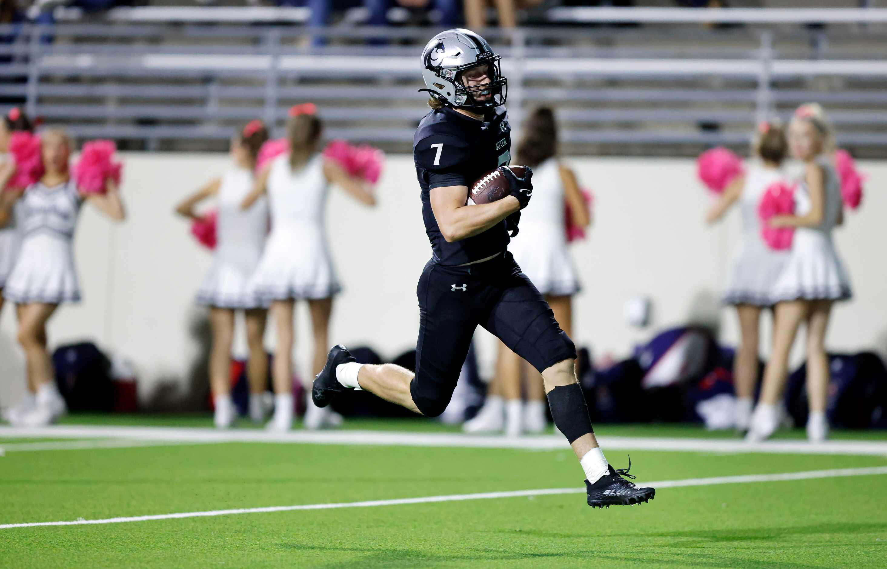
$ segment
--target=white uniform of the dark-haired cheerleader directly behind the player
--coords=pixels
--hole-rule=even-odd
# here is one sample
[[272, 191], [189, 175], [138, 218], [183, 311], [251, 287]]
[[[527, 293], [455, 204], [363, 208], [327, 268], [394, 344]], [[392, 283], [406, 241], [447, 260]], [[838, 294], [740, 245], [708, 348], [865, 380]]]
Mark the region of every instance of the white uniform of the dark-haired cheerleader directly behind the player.
[[549, 158], [533, 169], [533, 204], [521, 210], [519, 232], [508, 246], [543, 295], [570, 296], [580, 288], [565, 224], [560, 164]]

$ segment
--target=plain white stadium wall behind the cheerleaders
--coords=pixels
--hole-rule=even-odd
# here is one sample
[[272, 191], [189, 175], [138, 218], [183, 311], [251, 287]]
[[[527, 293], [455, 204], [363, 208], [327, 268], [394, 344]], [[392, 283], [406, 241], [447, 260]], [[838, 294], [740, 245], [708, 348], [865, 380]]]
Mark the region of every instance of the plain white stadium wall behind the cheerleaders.
[[[64, 306], [51, 321], [51, 345], [89, 339], [135, 365], [139, 396], [148, 407], [184, 397], [200, 355], [192, 331], [205, 312], [193, 304], [210, 254], [172, 214], [185, 194], [222, 172], [219, 154], [127, 154], [123, 194], [129, 219], [112, 225], [89, 207], [76, 237], [83, 302]], [[689, 320], [719, 320], [721, 341], [734, 344], [733, 314], [718, 310], [718, 295], [738, 240], [738, 213], [716, 227], [703, 225], [708, 197], [690, 160], [572, 158], [583, 186], [593, 189], [594, 225], [573, 247], [583, 292], [575, 305], [574, 339], [600, 357], [616, 358], [654, 331]], [[831, 350], [887, 352], [887, 164], [861, 162], [867, 195], [838, 230], [838, 248], [855, 296], [834, 312]], [[541, 190], [542, 188], [539, 188]], [[412, 158], [389, 156], [379, 205], [366, 209], [334, 190], [327, 225], [344, 292], [334, 306], [331, 340], [369, 344], [383, 357], [412, 348], [418, 331], [416, 281], [430, 249], [420, 216]], [[532, 205], [530, 205], [532, 207]], [[520, 239], [520, 236], [517, 238]], [[298, 244], [294, 243], [294, 247]], [[648, 328], [632, 328], [624, 304], [648, 296]], [[12, 307], [0, 315], [0, 405], [23, 390], [24, 362], [15, 344]], [[477, 335], [482, 370], [489, 374], [495, 343]], [[273, 343], [271, 334], [267, 337]], [[765, 332], [764, 342], [769, 341]], [[242, 352], [243, 340], [237, 350]], [[298, 312], [297, 372], [310, 373], [310, 326]], [[795, 360], [800, 351], [796, 349]]]

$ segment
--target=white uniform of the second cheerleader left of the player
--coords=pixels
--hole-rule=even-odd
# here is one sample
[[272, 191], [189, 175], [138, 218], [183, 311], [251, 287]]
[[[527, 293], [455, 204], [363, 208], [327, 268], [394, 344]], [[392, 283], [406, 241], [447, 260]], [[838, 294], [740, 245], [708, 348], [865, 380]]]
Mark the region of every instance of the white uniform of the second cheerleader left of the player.
[[268, 234], [268, 201], [262, 197], [246, 211], [240, 203], [253, 187], [253, 174], [232, 168], [222, 177], [216, 217], [216, 253], [197, 293], [197, 304], [249, 310], [267, 305], [252, 277]]

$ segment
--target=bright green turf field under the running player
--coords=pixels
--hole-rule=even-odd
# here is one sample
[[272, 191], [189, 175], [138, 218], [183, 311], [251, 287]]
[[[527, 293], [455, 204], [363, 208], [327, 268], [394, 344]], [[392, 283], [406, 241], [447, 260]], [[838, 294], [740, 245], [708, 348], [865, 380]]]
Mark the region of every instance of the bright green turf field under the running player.
[[[139, 424], [130, 419], [115, 422]], [[177, 427], [209, 423], [166, 419]], [[99, 422], [67, 423], [78, 421]], [[668, 429], [671, 437], [704, 434], [659, 432]], [[597, 430], [648, 437], [655, 427]], [[569, 450], [289, 443], [14, 450], [46, 439], [0, 439], [11, 449], [0, 457], [0, 525], [582, 485]], [[607, 455], [624, 467], [628, 452], [639, 483], [887, 466], [887, 455]], [[609, 510], [591, 510], [584, 494], [560, 494], [0, 529], [3, 567], [795, 568], [885, 560], [887, 474], [663, 487], [653, 502]]]

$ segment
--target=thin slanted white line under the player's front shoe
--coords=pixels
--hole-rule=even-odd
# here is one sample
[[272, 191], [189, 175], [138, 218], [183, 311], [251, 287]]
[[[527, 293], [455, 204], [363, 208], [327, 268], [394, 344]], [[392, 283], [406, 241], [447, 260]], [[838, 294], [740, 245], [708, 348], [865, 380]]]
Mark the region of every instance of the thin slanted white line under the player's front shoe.
[[[808, 480], [812, 478], [836, 478], [847, 476], [871, 476], [887, 474], [887, 466], [869, 468], [852, 468], [839, 470], [807, 470], [805, 472], [785, 472], [781, 474], [751, 474], [746, 476], [718, 476], [714, 478], [687, 478], [683, 480], [663, 480], [659, 482], [643, 482], [642, 486], [653, 486], [657, 490], [681, 486], [712, 486], [718, 484], [745, 484], [750, 482], [778, 482], [784, 480]], [[0, 529], [13, 527], [35, 526], [87, 526], [97, 524], [125, 524], [128, 522], [147, 522], [161, 519], [178, 518], [211, 518], [231, 516], [233, 514], [261, 514], [277, 511], [294, 510], [335, 510], [339, 508], [374, 508], [377, 506], [398, 506], [404, 504], [424, 504], [433, 502], [465, 502], [467, 500], [492, 500], [497, 498], [519, 498], [522, 496], [545, 496], [552, 494], [582, 494], [585, 488], [540, 488], [537, 490], [517, 490], [514, 492], [484, 492], [480, 494], [450, 494], [444, 496], [425, 496], [422, 498], [397, 498], [395, 500], [368, 500], [365, 502], [334, 502], [326, 504], [301, 504], [296, 506], [269, 506], [265, 508], [239, 508], [236, 510], [189, 511], [175, 514], [156, 514], [153, 516], [132, 516], [130, 518], [76, 519], [59, 522], [30, 522], [25, 524], [2, 524]]]

